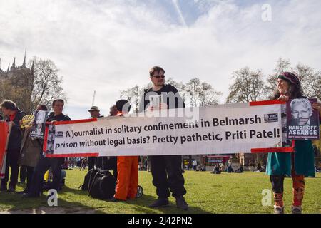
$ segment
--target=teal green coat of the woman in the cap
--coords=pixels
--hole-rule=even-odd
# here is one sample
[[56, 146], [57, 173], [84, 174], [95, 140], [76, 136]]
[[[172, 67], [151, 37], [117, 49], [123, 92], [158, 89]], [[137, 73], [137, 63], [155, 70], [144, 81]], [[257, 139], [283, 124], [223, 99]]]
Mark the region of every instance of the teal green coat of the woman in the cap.
[[[315, 155], [311, 140], [295, 140], [295, 173], [315, 175]], [[267, 175], [291, 175], [291, 153], [270, 152], [267, 157]]]

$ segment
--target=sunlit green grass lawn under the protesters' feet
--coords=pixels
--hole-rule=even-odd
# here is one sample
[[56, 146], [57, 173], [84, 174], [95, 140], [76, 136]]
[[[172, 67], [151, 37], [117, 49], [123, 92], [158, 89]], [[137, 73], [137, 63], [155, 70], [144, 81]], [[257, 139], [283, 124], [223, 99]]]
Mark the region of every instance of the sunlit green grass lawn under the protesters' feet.
[[[150, 209], [148, 205], [156, 199], [156, 189], [152, 185], [151, 173], [139, 172], [139, 184], [144, 195], [140, 199], [127, 202], [106, 202], [92, 199], [86, 192], [78, 190], [86, 171], [67, 170], [66, 186], [58, 195], [58, 207], [48, 207], [46, 197], [21, 199], [14, 193], [0, 193], [0, 212], [47, 212], [47, 213], [272, 213], [273, 206], [262, 206], [262, 190], [271, 189], [270, 180], [264, 173], [245, 172], [213, 175], [210, 172], [187, 171], [184, 174], [190, 205], [188, 212], [175, 207], [175, 199], [170, 197], [170, 206]], [[22, 185], [17, 191], [23, 190]], [[304, 213], [321, 212], [321, 174], [306, 179]], [[285, 212], [290, 213], [292, 203], [292, 180], [285, 179]], [[272, 200], [273, 204], [273, 200]]]

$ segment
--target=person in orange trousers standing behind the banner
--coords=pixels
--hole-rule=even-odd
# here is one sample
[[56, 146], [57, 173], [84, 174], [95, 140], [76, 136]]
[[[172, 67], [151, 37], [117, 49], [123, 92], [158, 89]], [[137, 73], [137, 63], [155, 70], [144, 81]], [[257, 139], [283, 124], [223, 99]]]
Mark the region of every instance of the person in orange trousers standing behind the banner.
[[[117, 116], [126, 115], [131, 110], [131, 105], [127, 100], [118, 100], [116, 107]], [[117, 171], [115, 195], [110, 201], [135, 199], [138, 187], [138, 156], [118, 156]]]

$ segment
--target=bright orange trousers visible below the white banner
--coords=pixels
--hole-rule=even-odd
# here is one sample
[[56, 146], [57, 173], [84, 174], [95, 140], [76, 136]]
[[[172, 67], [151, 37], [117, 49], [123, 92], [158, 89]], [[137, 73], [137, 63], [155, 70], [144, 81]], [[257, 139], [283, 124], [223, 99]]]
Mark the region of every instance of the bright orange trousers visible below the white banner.
[[135, 199], [138, 186], [138, 156], [119, 156], [117, 172], [114, 197], [121, 200]]

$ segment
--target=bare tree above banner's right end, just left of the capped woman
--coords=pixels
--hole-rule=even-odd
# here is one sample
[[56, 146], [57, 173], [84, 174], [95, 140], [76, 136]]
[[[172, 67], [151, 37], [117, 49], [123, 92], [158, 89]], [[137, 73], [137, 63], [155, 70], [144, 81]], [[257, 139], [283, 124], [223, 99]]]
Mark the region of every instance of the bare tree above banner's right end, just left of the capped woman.
[[233, 73], [234, 82], [230, 86], [227, 103], [240, 103], [262, 100], [266, 90], [262, 71], [251, 71], [245, 67]]

